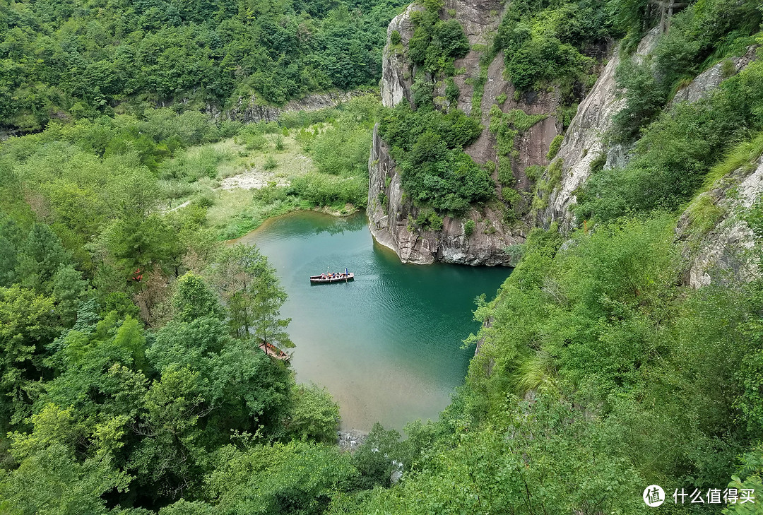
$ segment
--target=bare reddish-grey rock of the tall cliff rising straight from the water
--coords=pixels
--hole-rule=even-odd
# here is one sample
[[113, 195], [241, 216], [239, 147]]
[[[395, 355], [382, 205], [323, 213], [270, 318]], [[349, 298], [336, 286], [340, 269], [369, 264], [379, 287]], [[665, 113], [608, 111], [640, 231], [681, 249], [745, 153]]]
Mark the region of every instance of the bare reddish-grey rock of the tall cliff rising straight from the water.
[[[530, 127], [515, 141], [517, 153], [512, 158], [515, 188], [530, 192], [530, 181], [525, 169], [531, 165], [546, 165], [546, 153], [549, 146], [562, 130], [554, 116], [559, 105], [559, 94], [554, 90], [515, 98], [513, 86], [503, 76], [503, 56], [497, 56], [488, 66], [481, 69], [482, 53], [498, 24], [503, 11], [500, 0], [486, 2], [465, 2], [464, 0], [446, 0], [444, 12], [453, 15], [464, 27], [472, 50], [462, 59], [456, 60], [456, 69], [462, 70], [453, 79], [461, 92], [458, 105], [455, 106], [467, 114], [474, 108], [480, 109], [480, 118], [485, 130], [480, 137], [465, 148], [476, 163], [496, 163], [496, 140], [487, 129], [489, 113], [497, 98], [505, 95], [507, 101], [501, 105], [501, 111], [509, 112], [521, 109], [526, 114], [547, 114], [539, 123]], [[392, 20], [388, 29], [388, 43], [382, 62], [381, 99], [385, 107], [392, 108], [401, 101], [410, 103], [411, 86], [416, 70], [404, 50], [394, 47], [389, 41], [393, 31], [401, 35], [403, 48], [413, 35], [414, 27], [410, 14], [420, 9], [411, 5], [407, 10]], [[480, 82], [480, 77], [487, 79]], [[481, 93], [475, 84], [481, 83]], [[444, 96], [444, 84], [436, 87], [435, 96]], [[475, 89], [477, 91], [475, 92]], [[475, 95], [480, 95], [476, 98]], [[497, 172], [496, 172], [497, 173]], [[371, 231], [380, 243], [394, 249], [403, 262], [426, 264], [434, 261], [461, 263], [468, 265], [510, 265], [511, 256], [507, 247], [522, 243], [527, 224], [507, 224], [504, 222], [504, 208], [501, 202], [492, 207], [473, 209], [465, 217], [454, 219], [445, 217], [442, 230], [417, 230], [411, 227], [408, 219], [417, 217], [418, 208], [404, 198], [400, 186], [400, 176], [395, 169], [387, 144], [375, 131], [371, 159], [369, 159], [369, 220]], [[497, 175], [494, 175], [497, 182]], [[497, 195], [502, 200], [501, 188]], [[383, 204], [380, 198], [386, 198]], [[465, 224], [472, 220], [472, 233], [465, 233]]]

